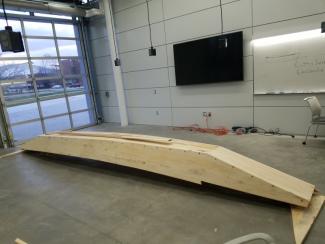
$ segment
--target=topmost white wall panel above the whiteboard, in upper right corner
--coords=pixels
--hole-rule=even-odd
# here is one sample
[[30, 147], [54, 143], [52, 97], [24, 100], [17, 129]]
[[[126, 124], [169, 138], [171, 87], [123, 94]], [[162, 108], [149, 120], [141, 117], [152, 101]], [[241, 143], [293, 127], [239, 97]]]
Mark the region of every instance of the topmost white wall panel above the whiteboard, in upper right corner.
[[325, 12], [324, 0], [253, 0], [254, 25]]

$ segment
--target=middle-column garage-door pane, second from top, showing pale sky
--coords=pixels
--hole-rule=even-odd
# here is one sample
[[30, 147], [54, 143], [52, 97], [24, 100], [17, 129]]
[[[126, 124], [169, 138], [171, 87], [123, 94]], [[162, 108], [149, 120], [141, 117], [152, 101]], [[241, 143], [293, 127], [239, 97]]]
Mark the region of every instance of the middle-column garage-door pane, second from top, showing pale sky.
[[56, 57], [55, 42], [52, 39], [27, 39], [31, 57]]

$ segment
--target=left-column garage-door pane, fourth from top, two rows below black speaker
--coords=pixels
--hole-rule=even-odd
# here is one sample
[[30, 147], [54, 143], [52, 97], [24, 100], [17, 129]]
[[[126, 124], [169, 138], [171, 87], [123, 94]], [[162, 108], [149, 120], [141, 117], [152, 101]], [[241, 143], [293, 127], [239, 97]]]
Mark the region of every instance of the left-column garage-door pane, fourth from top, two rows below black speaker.
[[1, 83], [5, 101], [12, 104], [14, 101], [35, 99], [35, 90], [32, 81]]

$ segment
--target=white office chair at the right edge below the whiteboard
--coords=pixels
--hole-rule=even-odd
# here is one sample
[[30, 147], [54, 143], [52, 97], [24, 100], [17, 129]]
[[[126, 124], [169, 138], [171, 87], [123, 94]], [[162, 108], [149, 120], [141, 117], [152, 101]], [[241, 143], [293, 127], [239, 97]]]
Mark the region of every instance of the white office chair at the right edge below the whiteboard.
[[311, 122], [307, 129], [307, 134], [304, 142], [302, 144], [306, 145], [307, 137], [309, 135], [309, 130], [313, 125], [316, 125], [316, 131], [314, 137], [317, 137], [317, 130], [320, 125], [325, 125], [325, 116], [321, 116], [322, 107], [319, 104], [317, 97], [306, 97], [304, 101], [308, 102], [310, 110], [311, 110]]

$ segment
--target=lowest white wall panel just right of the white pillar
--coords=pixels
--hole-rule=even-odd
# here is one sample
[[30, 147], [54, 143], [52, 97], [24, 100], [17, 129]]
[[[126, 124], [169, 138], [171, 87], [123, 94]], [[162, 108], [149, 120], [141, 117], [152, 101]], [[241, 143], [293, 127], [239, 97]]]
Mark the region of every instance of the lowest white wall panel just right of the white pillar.
[[171, 125], [170, 108], [128, 108], [131, 124]]

